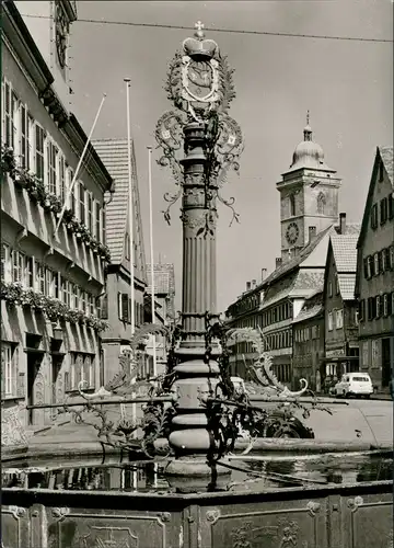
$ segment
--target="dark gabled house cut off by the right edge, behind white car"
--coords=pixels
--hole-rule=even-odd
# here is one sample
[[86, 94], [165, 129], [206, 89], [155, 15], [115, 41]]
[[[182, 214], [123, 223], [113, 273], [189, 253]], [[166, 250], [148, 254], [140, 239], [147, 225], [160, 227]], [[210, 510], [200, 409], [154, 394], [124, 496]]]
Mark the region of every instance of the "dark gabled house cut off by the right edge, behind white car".
[[379, 390], [389, 390], [394, 369], [393, 176], [393, 147], [378, 147], [357, 243], [356, 296], [360, 366]]

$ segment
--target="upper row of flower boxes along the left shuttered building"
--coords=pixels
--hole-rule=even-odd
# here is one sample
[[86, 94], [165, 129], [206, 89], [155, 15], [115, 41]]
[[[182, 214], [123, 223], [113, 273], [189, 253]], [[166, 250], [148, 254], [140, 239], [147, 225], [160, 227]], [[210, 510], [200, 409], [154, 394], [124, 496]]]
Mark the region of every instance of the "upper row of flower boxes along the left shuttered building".
[[[62, 202], [55, 194], [48, 192], [44, 183], [31, 171], [18, 168], [13, 149], [11, 147], [1, 147], [1, 172], [9, 173], [13, 182], [21, 189], [26, 189], [30, 198], [43, 206], [46, 212], [53, 212], [57, 218], [61, 215]], [[76, 219], [71, 209], [65, 209], [62, 216], [67, 230], [74, 233], [77, 239], [82, 241], [93, 253], [111, 262], [111, 253], [107, 246], [97, 241], [91, 235], [89, 228]]]

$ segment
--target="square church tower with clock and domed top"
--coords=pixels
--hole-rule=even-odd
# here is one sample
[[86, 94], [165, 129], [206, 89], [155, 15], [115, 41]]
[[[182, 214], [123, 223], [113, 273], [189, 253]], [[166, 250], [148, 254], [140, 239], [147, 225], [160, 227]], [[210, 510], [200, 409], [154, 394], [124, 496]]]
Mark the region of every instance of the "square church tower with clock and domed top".
[[293, 153], [290, 169], [277, 183], [280, 193], [281, 256], [294, 256], [310, 239], [338, 220], [341, 180], [324, 161], [324, 152], [306, 127]]

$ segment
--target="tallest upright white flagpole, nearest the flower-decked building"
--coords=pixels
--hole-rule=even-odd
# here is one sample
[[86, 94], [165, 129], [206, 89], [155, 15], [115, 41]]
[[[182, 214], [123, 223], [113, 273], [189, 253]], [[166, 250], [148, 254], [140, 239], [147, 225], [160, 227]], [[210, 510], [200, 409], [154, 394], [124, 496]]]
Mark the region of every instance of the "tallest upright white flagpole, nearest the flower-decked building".
[[[129, 256], [130, 256], [130, 322], [131, 322], [131, 338], [136, 330], [136, 319], [135, 319], [135, 272], [134, 272], [134, 193], [132, 193], [132, 172], [131, 172], [131, 126], [130, 126], [130, 79], [125, 78], [126, 82], [126, 102], [127, 102], [127, 163], [128, 163], [128, 220], [129, 220]], [[131, 341], [130, 341], [131, 342]], [[132, 367], [132, 364], [130, 364]], [[131, 372], [130, 372], [131, 373]], [[131, 383], [135, 378], [131, 379]], [[131, 392], [131, 398], [136, 398], [136, 392]], [[131, 403], [131, 419], [136, 424], [137, 422], [137, 403]], [[137, 431], [134, 432], [134, 437], [137, 436]]]

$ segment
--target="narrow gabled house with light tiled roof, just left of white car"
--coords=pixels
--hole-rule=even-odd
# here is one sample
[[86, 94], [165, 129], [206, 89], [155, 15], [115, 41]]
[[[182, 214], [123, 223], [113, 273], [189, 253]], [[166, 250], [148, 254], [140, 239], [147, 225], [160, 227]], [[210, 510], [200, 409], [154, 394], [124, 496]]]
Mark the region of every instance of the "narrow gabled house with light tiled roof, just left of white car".
[[359, 370], [358, 304], [355, 297], [358, 235], [329, 238], [324, 276], [324, 379]]

